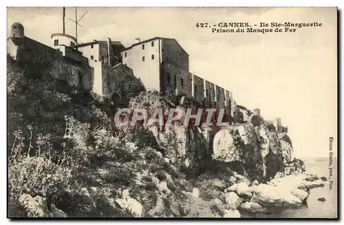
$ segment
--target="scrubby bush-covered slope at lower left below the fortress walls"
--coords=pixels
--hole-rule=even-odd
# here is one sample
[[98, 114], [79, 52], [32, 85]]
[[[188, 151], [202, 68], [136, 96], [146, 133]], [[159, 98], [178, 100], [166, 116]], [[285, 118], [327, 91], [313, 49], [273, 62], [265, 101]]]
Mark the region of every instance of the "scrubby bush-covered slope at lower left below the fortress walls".
[[223, 214], [221, 204], [192, 197], [149, 132], [120, 130], [112, 115], [109, 100], [49, 74], [34, 78], [8, 58], [9, 216]]

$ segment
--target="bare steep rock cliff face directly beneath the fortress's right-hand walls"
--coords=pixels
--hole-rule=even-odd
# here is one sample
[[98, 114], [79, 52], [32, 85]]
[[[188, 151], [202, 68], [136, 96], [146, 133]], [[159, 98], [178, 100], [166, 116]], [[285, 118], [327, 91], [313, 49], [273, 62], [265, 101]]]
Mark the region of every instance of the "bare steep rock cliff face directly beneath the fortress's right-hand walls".
[[[167, 117], [170, 108], [175, 108], [158, 93], [141, 93], [131, 100], [131, 110], [145, 108], [151, 115], [156, 108], [164, 108]], [[192, 107], [183, 104], [177, 108]], [[266, 121], [251, 115], [249, 122], [228, 126], [183, 126], [184, 117], [172, 126], [147, 125], [146, 119], [140, 124], [149, 130], [166, 157], [186, 167], [200, 162], [222, 162], [234, 167], [251, 180], [270, 180], [284, 174], [299, 174], [305, 171], [302, 161], [294, 158], [292, 142], [288, 134], [268, 129]]]

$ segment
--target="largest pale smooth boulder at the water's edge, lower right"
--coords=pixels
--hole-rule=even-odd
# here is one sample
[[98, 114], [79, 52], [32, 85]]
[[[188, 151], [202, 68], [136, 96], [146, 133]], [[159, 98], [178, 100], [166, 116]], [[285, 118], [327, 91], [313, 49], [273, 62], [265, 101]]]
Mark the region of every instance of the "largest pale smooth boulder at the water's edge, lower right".
[[252, 202], [262, 206], [301, 206], [302, 201], [293, 196], [289, 189], [274, 187], [272, 185], [258, 185], [252, 196]]

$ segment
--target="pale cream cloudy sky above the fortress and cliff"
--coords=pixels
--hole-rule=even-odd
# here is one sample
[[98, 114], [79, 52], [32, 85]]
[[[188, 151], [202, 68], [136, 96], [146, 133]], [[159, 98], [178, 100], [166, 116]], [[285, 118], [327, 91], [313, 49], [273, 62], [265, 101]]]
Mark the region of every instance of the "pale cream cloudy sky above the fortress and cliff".
[[[261, 108], [288, 126], [296, 156], [328, 156], [336, 137], [335, 8], [78, 8], [78, 42], [175, 38], [190, 55], [190, 71], [233, 92], [237, 104]], [[75, 9], [66, 9], [66, 33], [75, 35]], [[8, 8], [10, 25], [51, 45], [62, 32], [62, 8]], [[196, 23], [322, 23], [295, 33], [212, 33]]]

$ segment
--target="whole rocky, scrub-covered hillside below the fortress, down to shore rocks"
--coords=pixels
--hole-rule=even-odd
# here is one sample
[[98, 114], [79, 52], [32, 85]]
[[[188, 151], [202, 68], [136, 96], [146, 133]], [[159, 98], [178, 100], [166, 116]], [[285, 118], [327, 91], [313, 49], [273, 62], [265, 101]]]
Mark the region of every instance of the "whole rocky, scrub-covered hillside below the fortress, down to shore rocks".
[[[182, 103], [144, 92], [129, 107], [192, 101]], [[260, 117], [222, 128], [118, 128], [114, 105], [8, 62], [10, 217], [240, 217], [299, 206], [323, 185]]]

